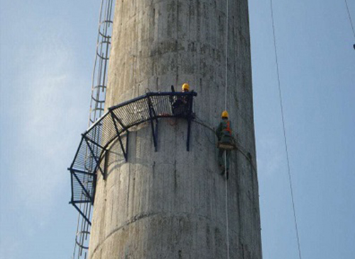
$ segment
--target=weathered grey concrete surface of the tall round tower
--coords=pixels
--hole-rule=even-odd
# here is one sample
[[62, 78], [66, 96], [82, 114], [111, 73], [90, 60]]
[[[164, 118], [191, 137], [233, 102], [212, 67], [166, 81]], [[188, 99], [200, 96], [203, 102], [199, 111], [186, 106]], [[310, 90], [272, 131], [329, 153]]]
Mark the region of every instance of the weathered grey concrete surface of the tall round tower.
[[98, 175], [90, 259], [228, 258], [227, 243], [229, 258], [262, 258], [248, 1], [226, 3], [116, 1], [106, 107], [187, 82], [198, 93], [198, 119], [217, 127], [227, 78], [227, 110], [243, 152], [231, 153], [226, 195], [211, 129], [192, 122], [190, 151], [185, 120], [160, 119], [158, 151], [149, 124], [130, 129], [128, 162], [113, 144], [107, 177]]

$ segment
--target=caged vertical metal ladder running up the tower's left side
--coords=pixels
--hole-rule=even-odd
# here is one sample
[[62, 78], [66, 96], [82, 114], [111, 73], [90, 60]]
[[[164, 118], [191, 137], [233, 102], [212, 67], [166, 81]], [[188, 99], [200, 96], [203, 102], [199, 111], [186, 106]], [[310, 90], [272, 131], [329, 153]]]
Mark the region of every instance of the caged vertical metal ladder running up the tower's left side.
[[[97, 47], [94, 60], [94, 70], [92, 73], [92, 96], [89, 112], [89, 127], [96, 122], [104, 113], [104, 103], [106, 99], [107, 71], [109, 67], [109, 53], [111, 50], [112, 23], [114, 17], [114, 1], [102, 0], [99, 11], [99, 28], [97, 35]], [[99, 140], [99, 132], [95, 139]], [[85, 171], [94, 170], [95, 156], [99, 155], [99, 150], [93, 152], [86, 150], [84, 157]], [[92, 185], [95, 181], [94, 175], [84, 174], [80, 183], [81, 200], [84, 202], [77, 205], [80, 212], [77, 218], [77, 231], [75, 236], [75, 247], [72, 259], [87, 259], [89, 249], [89, 236], [91, 231], [91, 217], [93, 200]]]

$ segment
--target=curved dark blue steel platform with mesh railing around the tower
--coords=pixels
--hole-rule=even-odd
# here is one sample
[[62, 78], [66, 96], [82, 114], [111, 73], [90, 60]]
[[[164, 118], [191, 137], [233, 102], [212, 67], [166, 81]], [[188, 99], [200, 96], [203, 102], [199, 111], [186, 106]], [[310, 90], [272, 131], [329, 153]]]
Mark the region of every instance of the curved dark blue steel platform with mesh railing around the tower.
[[[86, 212], [78, 206], [80, 203], [94, 204], [97, 172], [106, 178], [102, 161], [109, 146], [119, 141], [124, 158], [128, 161], [129, 129], [143, 122], [151, 122], [153, 143], [157, 151], [158, 119], [181, 117], [187, 120], [187, 151], [190, 149], [191, 121], [193, 97], [195, 92], [146, 93], [108, 109], [107, 113], [97, 120], [82, 134], [79, 147], [68, 170], [71, 175], [72, 197], [70, 204], [91, 224]], [[180, 103], [180, 105], [177, 105]], [[182, 103], [182, 104], [181, 104]], [[126, 135], [126, 143], [122, 139]]]

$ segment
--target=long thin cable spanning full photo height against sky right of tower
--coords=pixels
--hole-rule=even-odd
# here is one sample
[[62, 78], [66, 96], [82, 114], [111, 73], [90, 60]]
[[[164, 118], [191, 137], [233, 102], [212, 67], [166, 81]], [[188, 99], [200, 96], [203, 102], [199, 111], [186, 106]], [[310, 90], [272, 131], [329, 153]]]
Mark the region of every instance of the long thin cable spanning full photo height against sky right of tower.
[[290, 183], [291, 200], [292, 200], [292, 205], [293, 205], [293, 218], [295, 220], [295, 231], [296, 231], [296, 236], [297, 236], [298, 255], [300, 256], [300, 259], [302, 259], [301, 248], [300, 248], [300, 237], [298, 234], [298, 227], [297, 227], [295, 198], [293, 195], [293, 184], [292, 184], [291, 171], [290, 171], [290, 159], [288, 156], [288, 142], [287, 142], [286, 129], [285, 129], [285, 115], [283, 113], [283, 98], [282, 98], [282, 94], [281, 94], [280, 69], [279, 69], [279, 65], [278, 65], [278, 50], [277, 50], [277, 46], [276, 46], [275, 23], [274, 23], [274, 18], [273, 18], [273, 0], [270, 0], [270, 7], [271, 7], [271, 21], [273, 24], [273, 45], [274, 45], [274, 50], [275, 50], [276, 71], [277, 71], [277, 76], [278, 76], [278, 94], [279, 94], [279, 98], [280, 98], [281, 118], [282, 118], [282, 122], [283, 122], [283, 139], [285, 142], [286, 160], [287, 160], [287, 164], [288, 164], [288, 179], [289, 179], [289, 183]]

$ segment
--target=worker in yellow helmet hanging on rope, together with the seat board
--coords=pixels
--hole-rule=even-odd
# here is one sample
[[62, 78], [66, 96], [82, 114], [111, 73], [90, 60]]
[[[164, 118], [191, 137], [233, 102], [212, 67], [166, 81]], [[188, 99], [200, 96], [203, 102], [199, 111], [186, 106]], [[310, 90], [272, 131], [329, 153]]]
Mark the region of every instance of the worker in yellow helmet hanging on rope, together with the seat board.
[[219, 123], [216, 134], [218, 139], [218, 165], [221, 170], [221, 175], [226, 173], [226, 179], [228, 179], [231, 150], [236, 149], [236, 145], [231, 132], [231, 122], [229, 121], [229, 115], [226, 110], [222, 113], [222, 122]]

